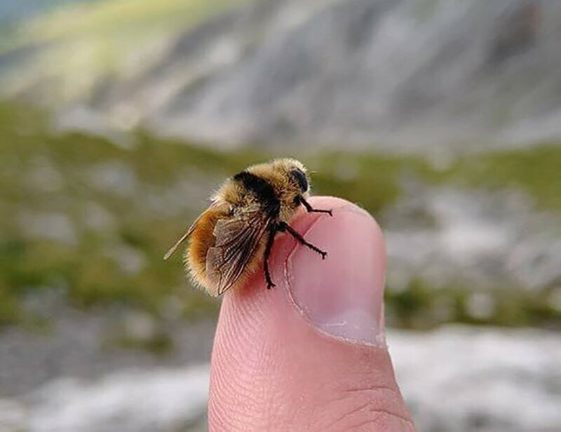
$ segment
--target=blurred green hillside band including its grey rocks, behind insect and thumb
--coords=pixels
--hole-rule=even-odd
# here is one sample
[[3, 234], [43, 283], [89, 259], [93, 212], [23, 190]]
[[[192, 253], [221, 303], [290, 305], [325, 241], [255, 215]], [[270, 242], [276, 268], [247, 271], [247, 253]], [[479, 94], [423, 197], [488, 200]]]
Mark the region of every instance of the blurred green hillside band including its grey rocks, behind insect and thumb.
[[[163, 252], [225, 177], [274, 153], [223, 153], [142, 130], [119, 141], [53, 133], [43, 114], [9, 104], [0, 136], [0, 326], [40, 324], [26, 299], [42, 292], [155, 318], [170, 302], [188, 318], [215, 310], [189, 288], [180, 254], [163, 262]], [[384, 227], [391, 325], [561, 327], [560, 147], [447, 167], [339, 151], [302, 160], [316, 194], [358, 203]]]

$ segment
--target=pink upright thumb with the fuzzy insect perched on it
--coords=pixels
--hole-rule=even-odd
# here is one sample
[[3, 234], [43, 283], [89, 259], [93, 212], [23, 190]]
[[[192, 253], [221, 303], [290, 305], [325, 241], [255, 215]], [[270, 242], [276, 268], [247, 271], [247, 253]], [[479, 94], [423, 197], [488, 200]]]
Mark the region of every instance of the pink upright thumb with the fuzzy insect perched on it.
[[333, 217], [291, 222], [262, 271], [222, 302], [212, 352], [210, 431], [414, 431], [384, 343], [384, 240], [366, 212], [311, 200]]

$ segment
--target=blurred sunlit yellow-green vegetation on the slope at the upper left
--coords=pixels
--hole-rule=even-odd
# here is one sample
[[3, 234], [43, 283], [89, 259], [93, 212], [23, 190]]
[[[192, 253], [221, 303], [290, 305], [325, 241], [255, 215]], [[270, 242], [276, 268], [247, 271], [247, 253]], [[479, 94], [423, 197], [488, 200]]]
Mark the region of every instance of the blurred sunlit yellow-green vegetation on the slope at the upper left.
[[142, 65], [153, 65], [147, 59], [158, 59], [172, 48], [171, 35], [242, 2], [106, 0], [56, 9], [25, 25], [0, 28], [0, 56], [10, 59], [0, 65], [6, 69], [0, 83], [13, 95], [25, 93], [29, 82], [48, 79], [60, 85], [46, 86], [53, 100], [88, 98], [109, 76], [142, 76]]

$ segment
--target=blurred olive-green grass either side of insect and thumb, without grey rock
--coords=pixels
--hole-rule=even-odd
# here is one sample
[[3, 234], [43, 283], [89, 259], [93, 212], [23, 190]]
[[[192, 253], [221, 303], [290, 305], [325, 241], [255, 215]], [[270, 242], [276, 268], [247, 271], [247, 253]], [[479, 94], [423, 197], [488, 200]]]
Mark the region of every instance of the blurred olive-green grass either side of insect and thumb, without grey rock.
[[[24, 299], [41, 290], [63, 292], [81, 308], [122, 305], [156, 318], [170, 303], [185, 318], [216, 313], [218, 302], [185, 281], [180, 254], [163, 262], [163, 252], [225, 177], [270, 157], [257, 149], [212, 151], [142, 130], [115, 140], [55, 133], [34, 109], [0, 104], [0, 325], [33, 320]], [[465, 156], [445, 168], [411, 156], [322, 151], [301, 158], [315, 171], [317, 194], [359, 203], [382, 224], [382, 210], [403, 193], [402, 177], [411, 173], [432, 184], [516, 187], [561, 212], [561, 148], [553, 145]], [[387, 316], [406, 328], [450, 321], [561, 327], [547, 292], [511, 288], [493, 290], [494, 313], [476, 318], [468, 307], [473, 290], [412, 281], [405, 289], [388, 287]]]

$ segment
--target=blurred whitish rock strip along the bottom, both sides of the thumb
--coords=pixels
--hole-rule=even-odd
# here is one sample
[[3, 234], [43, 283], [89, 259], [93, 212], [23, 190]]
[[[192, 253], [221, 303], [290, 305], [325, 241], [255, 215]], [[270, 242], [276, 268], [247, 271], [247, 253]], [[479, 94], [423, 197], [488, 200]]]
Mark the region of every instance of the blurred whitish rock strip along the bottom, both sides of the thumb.
[[[543, 330], [391, 331], [396, 375], [419, 431], [554, 432], [561, 337]], [[0, 400], [6, 432], [204, 430], [208, 367], [62, 377]], [[181, 428], [181, 429], [180, 429]]]

